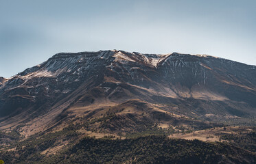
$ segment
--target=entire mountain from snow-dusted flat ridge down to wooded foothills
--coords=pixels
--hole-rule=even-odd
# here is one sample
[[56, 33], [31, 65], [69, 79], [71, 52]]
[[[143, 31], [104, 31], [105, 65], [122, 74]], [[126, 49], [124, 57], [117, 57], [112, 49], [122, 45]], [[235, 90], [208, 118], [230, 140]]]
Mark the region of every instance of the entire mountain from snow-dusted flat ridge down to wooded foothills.
[[58, 53], [0, 77], [0, 159], [255, 163], [255, 100], [256, 66], [228, 59]]

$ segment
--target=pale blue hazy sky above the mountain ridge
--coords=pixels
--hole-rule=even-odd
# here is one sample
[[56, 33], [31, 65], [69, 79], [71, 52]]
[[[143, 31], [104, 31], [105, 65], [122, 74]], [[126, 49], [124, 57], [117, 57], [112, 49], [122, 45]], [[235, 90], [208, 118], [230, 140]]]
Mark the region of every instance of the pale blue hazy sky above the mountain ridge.
[[61, 52], [207, 54], [256, 65], [255, 0], [0, 0], [0, 77]]

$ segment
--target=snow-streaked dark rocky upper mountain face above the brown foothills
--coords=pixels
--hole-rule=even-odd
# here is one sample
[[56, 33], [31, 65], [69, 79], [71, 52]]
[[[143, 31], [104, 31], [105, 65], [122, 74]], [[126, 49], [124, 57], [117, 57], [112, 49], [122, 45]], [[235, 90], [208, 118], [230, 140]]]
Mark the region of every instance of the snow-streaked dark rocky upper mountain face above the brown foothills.
[[180, 53], [59, 53], [10, 79], [0, 78], [0, 128], [47, 113], [48, 122], [61, 120], [79, 105], [133, 99], [202, 121], [255, 125], [256, 66]]

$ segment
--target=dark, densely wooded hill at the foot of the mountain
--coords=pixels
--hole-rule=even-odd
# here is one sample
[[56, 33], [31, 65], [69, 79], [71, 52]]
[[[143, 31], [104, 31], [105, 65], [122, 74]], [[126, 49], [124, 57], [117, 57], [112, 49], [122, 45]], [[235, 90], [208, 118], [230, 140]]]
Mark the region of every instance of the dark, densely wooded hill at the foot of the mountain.
[[168, 139], [163, 136], [136, 139], [86, 137], [60, 154], [38, 163], [253, 163], [256, 155], [226, 143]]

